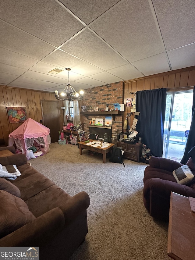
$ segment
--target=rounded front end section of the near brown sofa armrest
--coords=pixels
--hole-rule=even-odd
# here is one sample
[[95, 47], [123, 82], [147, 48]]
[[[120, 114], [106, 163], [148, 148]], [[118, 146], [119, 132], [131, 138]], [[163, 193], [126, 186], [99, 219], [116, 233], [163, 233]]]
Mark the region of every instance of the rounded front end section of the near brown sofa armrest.
[[65, 203], [59, 206], [64, 213], [66, 223], [71, 222], [81, 212], [86, 211], [90, 205], [90, 198], [87, 192], [81, 191], [75, 196], [69, 198]]

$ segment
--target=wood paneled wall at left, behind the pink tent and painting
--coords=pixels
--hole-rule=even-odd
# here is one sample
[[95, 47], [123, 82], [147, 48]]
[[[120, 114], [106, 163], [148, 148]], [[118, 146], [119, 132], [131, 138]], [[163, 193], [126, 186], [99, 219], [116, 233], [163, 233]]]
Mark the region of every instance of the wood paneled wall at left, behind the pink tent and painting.
[[[21, 88], [12, 88], [0, 86], [0, 139], [8, 145], [8, 136], [21, 123], [9, 123], [6, 107], [26, 107], [27, 118], [32, 118], [40, 123], [42, 119], [41, 100], [56, 100], [54, 93], [45, 91], [35, 91]], [[63, 126], [63, 106], [59, 101], [60, 118], [59, 123]], [[52, 120], [52, 119], [51, 119]]]

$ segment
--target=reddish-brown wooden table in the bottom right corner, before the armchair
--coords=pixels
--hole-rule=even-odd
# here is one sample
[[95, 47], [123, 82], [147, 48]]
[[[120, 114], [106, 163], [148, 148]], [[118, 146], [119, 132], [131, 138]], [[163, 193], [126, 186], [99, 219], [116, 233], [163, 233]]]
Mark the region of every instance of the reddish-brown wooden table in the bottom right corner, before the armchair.
[[195, 213], [189, 198], [171, 192], [167, 254], [175, 260], [194, 260]]

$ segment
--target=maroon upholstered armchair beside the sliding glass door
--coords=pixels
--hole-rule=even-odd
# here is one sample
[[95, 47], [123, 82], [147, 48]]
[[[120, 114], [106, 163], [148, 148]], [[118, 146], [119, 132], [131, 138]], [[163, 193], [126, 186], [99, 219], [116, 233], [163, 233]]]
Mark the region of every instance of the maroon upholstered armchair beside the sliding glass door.
[[[190, 158], [186, 163], [195, 174]], [[168, 220], [171, 191], [195, 198], [195, 181], [187, 185], [177, 183], [172, 172], [183, 164], [162, 157], [151, 157], [144, 172], [144, 206], [155, 219]]]

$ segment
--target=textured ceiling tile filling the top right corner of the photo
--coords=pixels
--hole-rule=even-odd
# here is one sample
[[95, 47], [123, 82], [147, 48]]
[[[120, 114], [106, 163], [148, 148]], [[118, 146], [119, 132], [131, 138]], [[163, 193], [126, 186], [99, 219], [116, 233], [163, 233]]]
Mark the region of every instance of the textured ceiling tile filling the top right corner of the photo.
[[153, 0], [152, 2], [167, 50], [195, 42], [193, 0]]

